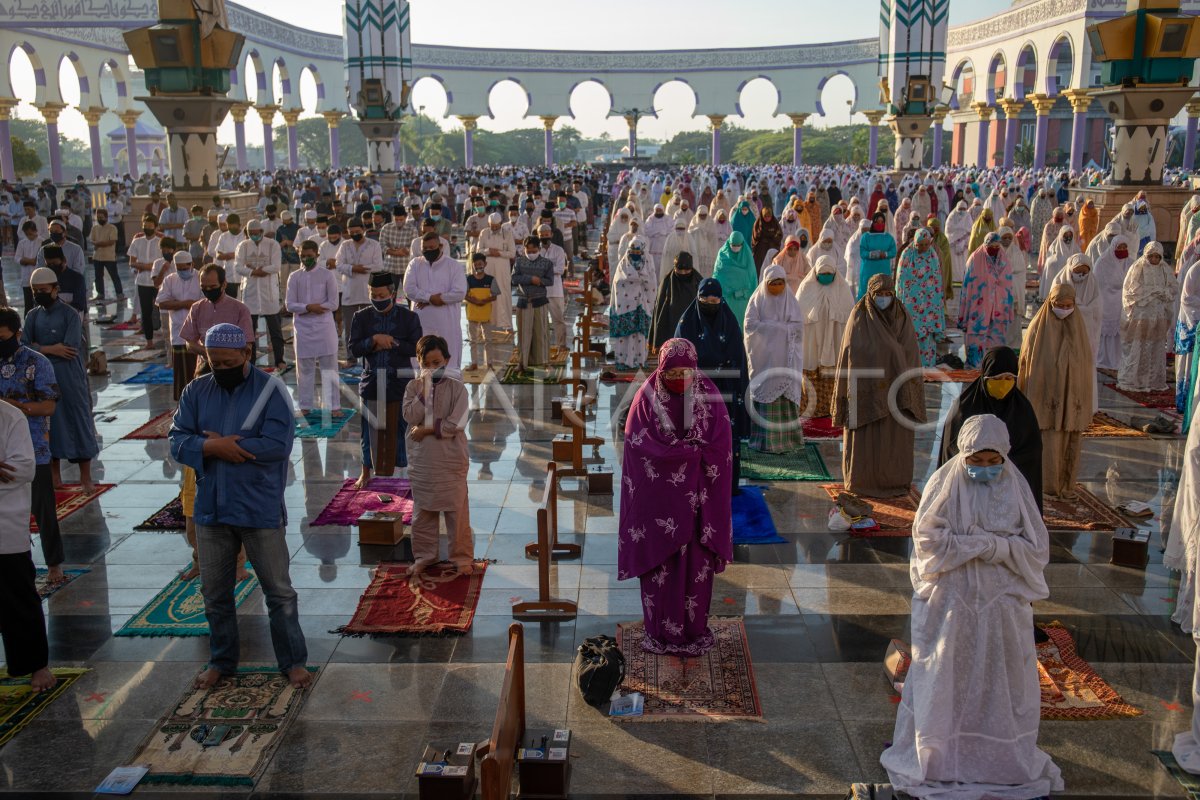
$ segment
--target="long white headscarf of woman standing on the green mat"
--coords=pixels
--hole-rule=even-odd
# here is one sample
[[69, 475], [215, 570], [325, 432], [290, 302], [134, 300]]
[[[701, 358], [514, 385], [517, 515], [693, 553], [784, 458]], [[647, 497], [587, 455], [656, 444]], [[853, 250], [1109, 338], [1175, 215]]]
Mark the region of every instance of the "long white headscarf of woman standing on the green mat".
[[804, 368], [804, 317], [796, 296], [784, 287], [767, 290], [770, 281], [787, 281], [784, 267], [772, 264], [750, 297], [745, 319], [745, 348], [750, 366], [750, 396], [760, 403], [786, 397], [800, 405]]

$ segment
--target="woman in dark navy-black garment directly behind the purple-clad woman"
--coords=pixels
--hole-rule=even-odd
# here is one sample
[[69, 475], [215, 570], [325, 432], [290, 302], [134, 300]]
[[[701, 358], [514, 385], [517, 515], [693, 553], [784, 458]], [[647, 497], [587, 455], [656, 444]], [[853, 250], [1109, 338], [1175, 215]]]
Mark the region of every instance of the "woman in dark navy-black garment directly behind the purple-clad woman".
[[733, 426], [733, 494], [740, 494], [742, 440], [750, 435], [750, 414], [746, 411], [746, 389], [750, 367], [746, 362], [742, 326], [715, 278], [704, 278], [696, 300], [679, 319], [676, 336], [696, 345], [696, 366], [716, 384], [730, 413]]

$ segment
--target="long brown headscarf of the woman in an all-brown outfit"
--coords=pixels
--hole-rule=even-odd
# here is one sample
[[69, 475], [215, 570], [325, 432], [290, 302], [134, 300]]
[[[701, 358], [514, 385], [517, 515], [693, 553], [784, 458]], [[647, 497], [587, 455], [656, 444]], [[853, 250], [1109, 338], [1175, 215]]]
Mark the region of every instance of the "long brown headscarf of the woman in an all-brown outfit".
[[[902, 373], [920, 368], [917, 332], [904, 303], [893, 300], [880, 311], [875, 296], [895, 291], [890, 275], [872, 275], [866, 293], [851, 312], [838, 356], [836, 387], [833, 396], [833, 423], [857, 429], [877, 422], [892, 413], [888, 395], [892, 381]], [[850, 380], [851, 372], [875, 371], [878, 379]], [[853, 391], [851, 386], [853, 385]], [[920, 375], [907, 379], [896, 393], [896, 407], [918, 422], [925, 421], [925, 390]]]

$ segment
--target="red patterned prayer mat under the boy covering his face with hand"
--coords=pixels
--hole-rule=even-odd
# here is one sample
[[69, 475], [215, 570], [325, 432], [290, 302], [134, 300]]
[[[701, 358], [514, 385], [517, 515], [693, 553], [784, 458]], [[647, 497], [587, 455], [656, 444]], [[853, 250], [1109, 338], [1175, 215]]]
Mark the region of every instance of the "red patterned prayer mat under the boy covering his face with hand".
[[380, 564], [349, 624], [330, 632], [445, 636], [469, 631], [487, 561], [476, 560], [472, 575], [458, 575], [451, 564], [434, 564], [415, 579], [408, 577], [408, 564]]

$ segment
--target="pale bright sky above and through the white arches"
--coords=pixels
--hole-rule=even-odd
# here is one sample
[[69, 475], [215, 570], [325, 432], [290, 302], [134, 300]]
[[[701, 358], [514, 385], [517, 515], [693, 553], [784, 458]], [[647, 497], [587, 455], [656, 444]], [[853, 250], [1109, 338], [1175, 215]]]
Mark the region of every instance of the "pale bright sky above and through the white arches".
[[[342, 31], [342, 4], [331, 0], [289, 0], [288, 16], [280, 13], [280, 0], [238, 0], [241, 5], [284, 20], [305, 20], [313, 30], [330, 34]], [[950, 24], [961, 24], [988, 17], [1008, 8], [1012, 0], [952, 0]], [[869, 38], [878, 34], [878, 0], [662, 0], [656, 4], [619, 5], [595, 4], [586, 0], [559, 0], [553, 13], [536, 14], [509, 12], [502, 0], [413, 0], [413, 40], [422, 44], [452, 44], [461, 47], [545, 46], [552, 49], [685, 49], [715, 47], [769, 47]], [[835, 8], [835, 11], [833, 11]], [[731, 10], [736, 10], [730, 14]], [[785, 24], [770, 24], [770, 20]], [[581, 36], [581, 32], [586, 36]], [[652, 35], [653, 32], [653, 35]], [[64, 70], [70, 66], [64, 64]], [[11, 65], [18, 97], [34, 95], [32, 71], [22, 55]], [[73, 76], [65, 76], [73, 77]], [[78, 102], [71, 80], [62, 82], [65, 101]], [[823, 104], [828, 118], [812, 118], [810, 125], [845, 125], [851, 121], [847, 101], [853, 96], [848, 78], [835, 79], [827, 86]], [[593, 92], [589, 95], [589, 91]], [[73, 95], [73, 96], [72, 96]], [[599, 97], [596, 96], [599, 95]], [[307, 74], [300, 82], [301, 103], [316, 106], [316, 88]], [[625, 122], [619, 118], [607, 120], [604, 108], [607, 96], [596, 84], [586, 84], [572, 97], [576, 119], [562, 119], [559, 126], [572, 125], [587, 137], [607, 132], [618, 140], [625, 137]], [[508, 131], [539, 127], [536, 120], [524, 119], [526, 100], [515, 84], [502, 83], [491, 97], [497, 118], [481, 119], [479, 126], [487, 131]], [[750, 128], [774, 130], [790, 126], [787, 118], [772, 115], [775, 92], [764, 80], [751, 82], [740, 97], [744, 119], [730, 122]], [[643, 139], [666, 139], [680, 131], [706, 130], [704, 118], [690, 116], [690, 92], [682, 84], [664, 86], [655, 97], [662, 112], [659, 119], [646, 119], [638, 125]], [[419, 82], [413, 91], [413, 108], [425, 107], [433, 118], [445, 115], [445, 95], [432, 80]], [[37, 119], [28, 103], [17, 108], [17, 115]], [[311, 116], [311, 112], [304, 116]], [[864, 118], [856, 116], [856, 122]], [[282, 124], [282, 119], [276, 120]], [[102, 124], [115, 127], [115, 118]], [[457, 127], [457, 121], [444, 119], [444, 128]], [[86, 122], [74, 108], [62, 113], [59, 127], [65, 136], [88, 138]], [[247, 125], [247, 142], [262, 144], [258, 125]], [[233, 142], [233, 122], [227, 119], [218, 130], [218, 139]]]

